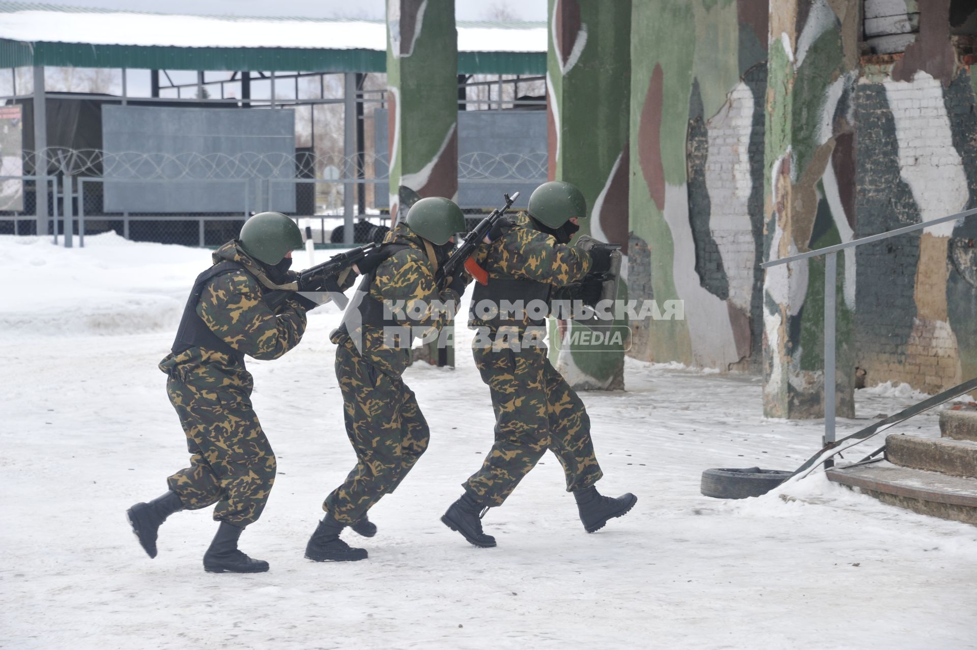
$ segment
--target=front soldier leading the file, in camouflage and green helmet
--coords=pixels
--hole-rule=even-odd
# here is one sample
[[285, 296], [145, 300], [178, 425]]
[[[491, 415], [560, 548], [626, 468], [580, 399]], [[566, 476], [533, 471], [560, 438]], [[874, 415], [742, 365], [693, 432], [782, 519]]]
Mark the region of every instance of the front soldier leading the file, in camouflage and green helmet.
[[[554, 288], [585, 283], [588, 275], [607, 271], [613, 248], [567, 245], [578, 229], [576, 219], [585, 216], [586, 200], [569, 183], [555, 181], [537, 188], [529, 214], [500, 222], [473, 256], [488, 273], [488, 284], [476, 285], [473, 307], [482, 300], [495, 305], [523, 301], [527, 306], [531, 301], [548, 302]], [[573, 388], [547, 359], [541, 343], [544, 322], [532, 316], [525, 310], [488, 319], [473, 310], [469, 320], [483, 334], [476, 336], [473, 348], [491, 394], [495, 443], [482, 468], [462, 484], [464, 494], [442, 521], [477, 546], [495, 545], [482, 531], [482, 516], [512, 494], [546, 450], [563, 465], [567, 491], [576, 498], [588, 533], [625, 514], [637, 501], [631, 494], [602, 497], [594, 487], [603, 474], [590, 439], [590, 419]]]

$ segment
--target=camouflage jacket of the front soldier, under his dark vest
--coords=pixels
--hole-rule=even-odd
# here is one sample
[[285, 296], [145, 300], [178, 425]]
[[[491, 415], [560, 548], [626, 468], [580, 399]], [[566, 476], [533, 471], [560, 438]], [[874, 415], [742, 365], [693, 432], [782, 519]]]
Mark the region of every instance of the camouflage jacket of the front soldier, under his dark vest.
[[[483, 243], [473, 257], [492, 279], [526, 279], [546, 282], [554, 287], [580, 282], [589, 273], [590, 255], [574, 246], [557, 243], [556, 238], [532, 227], [525, 212], [509, 219], [513, 227], [491, 243]], [[518, 298], [518, 296], [516, 296]], [[490, 326], [474, 313], [469, 315], [472, 328]], [[529, 325], [524, 319], [520, 331]]]

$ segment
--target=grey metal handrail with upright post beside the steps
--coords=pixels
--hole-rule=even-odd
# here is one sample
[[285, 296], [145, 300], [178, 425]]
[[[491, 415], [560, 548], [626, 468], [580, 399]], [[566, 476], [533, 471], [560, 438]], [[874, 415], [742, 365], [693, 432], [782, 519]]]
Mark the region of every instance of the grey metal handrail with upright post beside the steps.
[[[837, 376], [834, 364], [834, 348], [835, 348], [835, 306], [837, 303], [836, 298], [836, 284], [837, 284], [837, 253], [839, 250], [844, 250], [846, 248], [855, 248], [863, 243], [871, 243], [872, 241], [880, 241], [881, 239], [887, 239], [896, 237], [897, 235], [905, 235], [906, 233], [912, 233], [913, 231], [923, 230], [930, 226], [935, 226], [937, 224], [944, 224], [948, 221], [956, 221], [957, 219], [965, 219], [966, 217], [977, 214], [977, 208], [972, 208], [969, 210], [964, 210], [962, 212], [957, 212], [956, 214], [951, 214], [946, 217], [940, 217], [939, 219], [931, 219], [930, 221], [923, 221], [922, 223], [913, 224], [912, 226], [906, 226], [904, 228], [897, 228], [893, 231], [886, 231], [885, 233], [879, 233], [878, 235], [870, 235], [869, 237], [852, 239], [851, 241], [845, 241], [844, 243], [836, 243], [833, 246], [825, 246], [824, 248], [818, 248], [817, 250], [809, 250], [804, 253], [798, 253], [796, 255], [791, 255], [790, 257], [785, 257], [779, 260], [771, 260], [769, 262], [762, 262], [760, 264], [761, 269], [769, 269], [771, 267], [779, 266], [781, 264], [788, 264], [790, 262], [797, 262], [799, 260], [804, 260], [809, 257], [816, 257], [818, 255], [825, 255], [825, 435], [823, 437], [823, 443], [827, 446], [835, 441], [834, 435], [834, 420], [835, 420], [835, 406], [837, 402]], [[833, 396], [832, 399], [828, 399], [828, 395]], [[831, 464], [831, 460], [825, 461], [826, 466]]]

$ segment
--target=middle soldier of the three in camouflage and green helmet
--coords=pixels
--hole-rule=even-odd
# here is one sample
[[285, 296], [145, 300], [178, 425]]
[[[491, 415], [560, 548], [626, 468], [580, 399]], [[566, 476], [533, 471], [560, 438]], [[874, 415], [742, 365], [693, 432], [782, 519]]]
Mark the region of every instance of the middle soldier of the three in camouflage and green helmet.
[[[357, 530], [367, 510], [400, 485], [427, 449], [427, 422], [401, 375], [413, 336], [432, 328], [441, 331], [469, 282], [460, 267], [446, 278], [443, 290], [435, 282], [454, 234], [464, 230], [457, 205], [446, 198], [422, 198], [372, 259], [360, 264], [357, 296], [330, 339], [337, 345], [336, 378], [357, 465], [322, 504], [325, 517], [306, 547], [311, 560], [365, 559], [365, 549], [351, 548], [339, 534], [345, 526]], [[385, 313], [384, 304], [400, 304], [403, 310]]]

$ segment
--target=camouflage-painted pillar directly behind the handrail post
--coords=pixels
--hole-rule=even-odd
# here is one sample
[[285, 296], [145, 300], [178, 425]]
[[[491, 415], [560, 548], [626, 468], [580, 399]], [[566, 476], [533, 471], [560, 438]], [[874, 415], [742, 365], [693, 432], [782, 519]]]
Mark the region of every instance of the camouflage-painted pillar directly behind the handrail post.
[[[766, 259], [850, 240], [855, 227], [858, 0], [770, 3]], [[839, 254], [837, 414], [854, 416], [855, 253]], [[824, 414], [825, 260], [768, 270], [763, 283], [764, 412]]]

